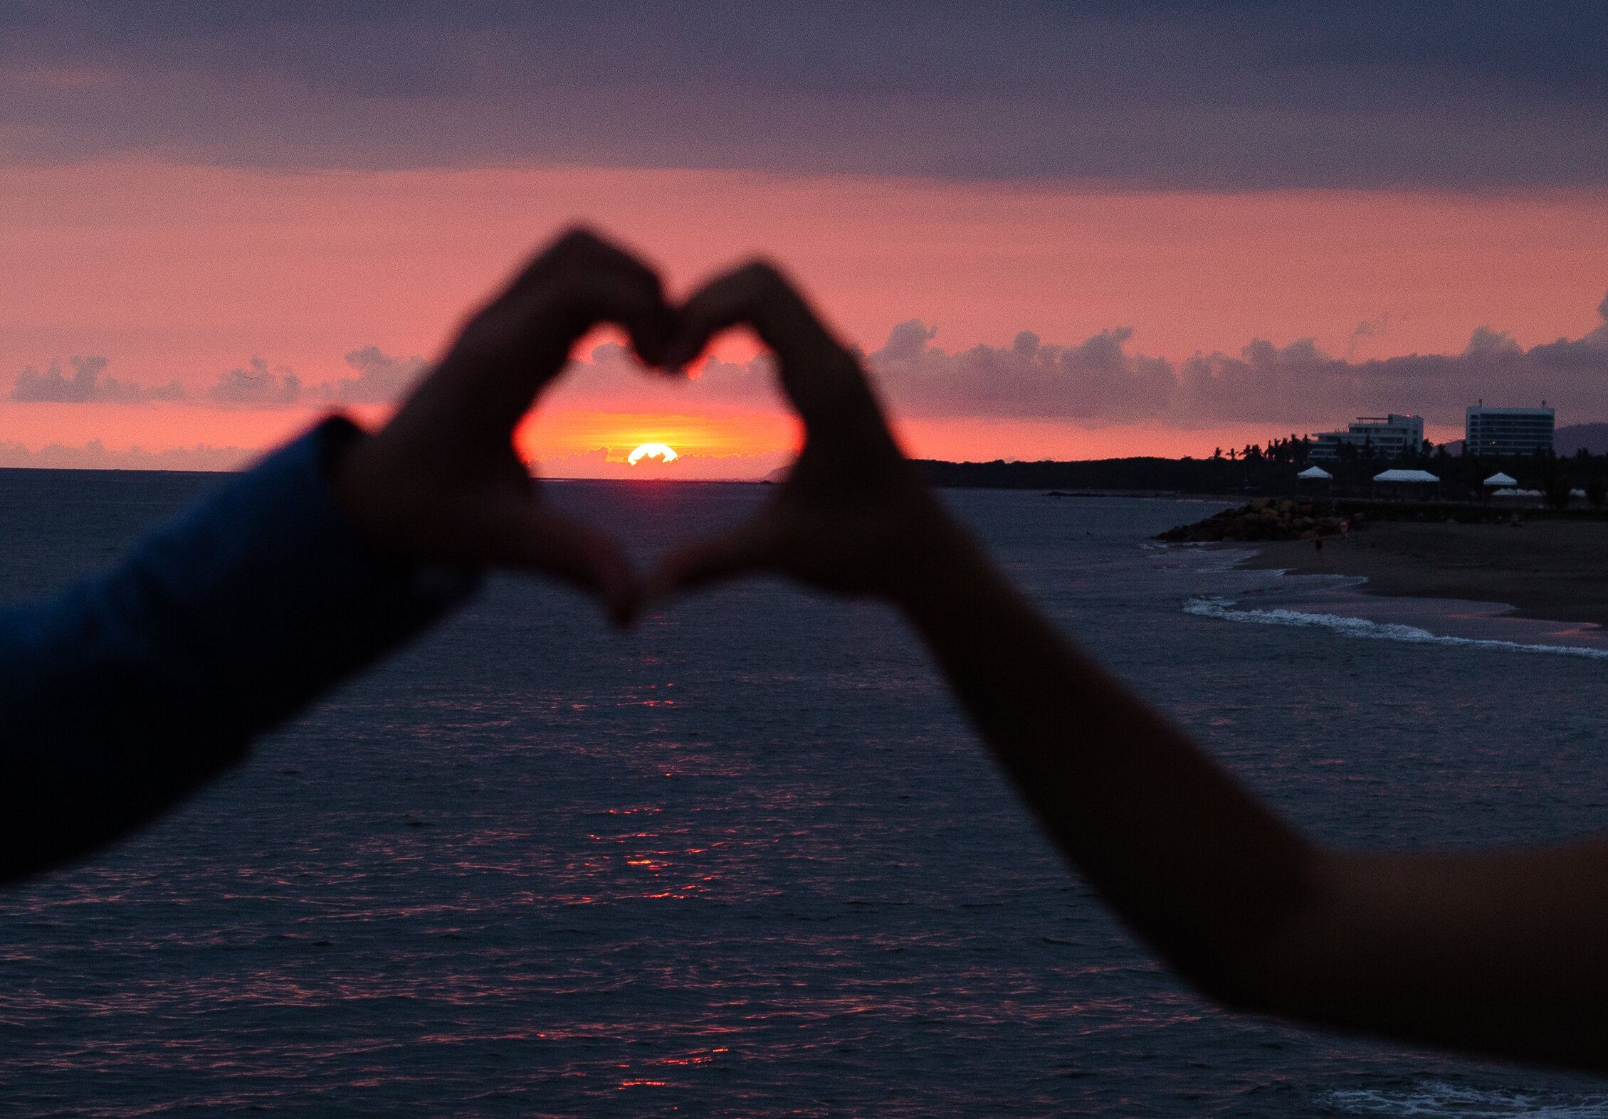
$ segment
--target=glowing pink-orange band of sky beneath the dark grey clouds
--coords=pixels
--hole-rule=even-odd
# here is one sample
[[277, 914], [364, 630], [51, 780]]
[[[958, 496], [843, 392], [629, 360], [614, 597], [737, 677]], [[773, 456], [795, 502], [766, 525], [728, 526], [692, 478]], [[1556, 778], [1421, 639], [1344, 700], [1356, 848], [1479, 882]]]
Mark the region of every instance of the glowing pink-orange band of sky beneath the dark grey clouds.
[[[1253, 338], [1315, 338], [1356, 359], [1458, 352], [1481, 325], [1528, 347], [1602, 325], [1605, 203], [1602, 191], [1122, 193], [690, 170], [11, 167], [0, 170], [0, 391], [24, 367], [87, 354], [109, 359], [119, 381], [177, 378], [191, 394], [252, 357], [307, 384], [351, 376], [343, 355], [363, 346], [431, 357], [471, 304], [574, 220], [643, 251], [677, 293], [765, 252], [867, 350], [910, 318], [936, 325], [950, 352], [1007, 347], [1021, 330], [1076, 346], [1114, 326], [1134, 328], [1130, 352], [1172, 360], [1238, 354]], [[1357, 336], [1362, 322], [1375, 326]], [[624, 384], [600, 404], [561, 387], [529, 445], [564, 460], [560, 473], [614, 473], [589, 469], [587, 452], [617, 460], [679, 437], [704, 474], [756, 476], [794, 437], [773, 405], [699, 400], [696, 384], [650, 389]], [[3, 400], [0, 444], [262, 449], [315, 415]], [[1312, 415], [1311, 429], [1348, 418]], [[1460, 434], [1460, 415], [1426, 418], [1436, 437]], [[1560, 423], [1603, 418], [1608, 408]], [[952, 416], [900, 431], [923, 457], [1084, 458], [1211, 453], [1290, 424]]]

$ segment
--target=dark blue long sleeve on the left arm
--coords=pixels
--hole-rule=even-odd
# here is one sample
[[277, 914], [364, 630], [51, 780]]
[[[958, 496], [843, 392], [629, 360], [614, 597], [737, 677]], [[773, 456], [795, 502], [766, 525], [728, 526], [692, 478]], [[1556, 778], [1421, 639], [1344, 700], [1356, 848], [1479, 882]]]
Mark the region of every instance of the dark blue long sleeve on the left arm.
[[0, 613], [0, 881], [158, 815], [474, 590], [351, 527], [326, 465], [357, 437], [328, 420], [109, 571]]

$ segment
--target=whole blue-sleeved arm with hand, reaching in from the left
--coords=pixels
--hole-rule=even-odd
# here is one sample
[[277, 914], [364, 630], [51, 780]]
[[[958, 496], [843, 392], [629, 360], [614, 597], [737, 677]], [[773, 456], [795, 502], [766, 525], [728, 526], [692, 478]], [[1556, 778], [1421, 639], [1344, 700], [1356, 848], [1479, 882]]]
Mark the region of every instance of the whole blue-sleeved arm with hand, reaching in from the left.
[[540, 502], [513, 429], [595, 322], [656, 355], [658, 278], [572, 233], [539, 256], [376, 436], [331, 420], [111, 571], [0, 616], [0, 881], [90, 852], [413, 637], [486, 564], [600, 593], [635, 580]]

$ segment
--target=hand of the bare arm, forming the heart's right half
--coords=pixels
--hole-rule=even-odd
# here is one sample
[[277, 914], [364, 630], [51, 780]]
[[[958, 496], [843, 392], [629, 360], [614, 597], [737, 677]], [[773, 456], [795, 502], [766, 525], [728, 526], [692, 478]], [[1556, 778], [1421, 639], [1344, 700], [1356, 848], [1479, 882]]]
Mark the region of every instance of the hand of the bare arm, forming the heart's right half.
[[666, 367], [685, 365], [714, 333], [738, 323], [775, 350], [781, 386], [804, 420], [804, 450], [775, 500], [748, 524], [667, 556], [650, 593], [773, 571], [823, 590], [902, 601], [936, 568], [974, 555], [899, 452], [859, 360], [769, 264], [749, 264], [695, 294], [682, 307]]

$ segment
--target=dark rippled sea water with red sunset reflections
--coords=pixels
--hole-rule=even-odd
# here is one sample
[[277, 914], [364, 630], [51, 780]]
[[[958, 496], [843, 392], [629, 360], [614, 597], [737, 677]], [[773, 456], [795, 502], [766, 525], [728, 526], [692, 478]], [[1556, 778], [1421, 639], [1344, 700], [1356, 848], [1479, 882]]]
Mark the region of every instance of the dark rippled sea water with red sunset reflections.
[[[207, 484], [0, 471], [0, 590]], [[547, 487], [643, 558], [772, 492]], [[1150, 539], [1212, 505], [944, 498], [1323, 841], [1608, 822], [1608, 661], [1532, 648], [1589, 635]], [[180, 810], [0, 894], [0, 1113], [251, 1109], [1608, 1116], [1608, 1084], [1216, 1010], [1045, 844], [881, 606], [756, 579], [614, 633], [495, 577]]]

